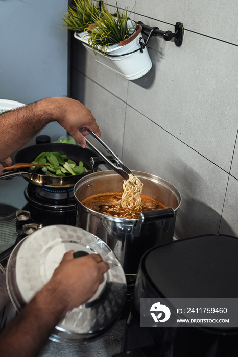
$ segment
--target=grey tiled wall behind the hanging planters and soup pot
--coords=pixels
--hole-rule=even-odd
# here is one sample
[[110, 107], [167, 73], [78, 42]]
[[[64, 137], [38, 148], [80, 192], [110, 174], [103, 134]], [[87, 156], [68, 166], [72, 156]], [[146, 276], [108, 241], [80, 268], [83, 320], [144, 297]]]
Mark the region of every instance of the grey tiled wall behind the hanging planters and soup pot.
[[91, 110], [102, 139], [127, 166], [180, 191], [177, 238], [238, 236], [236, 0], [117, 3], [135, 5], [131, 18], [163, 31], [182, 22], [183, 44], [152, 38], [152, 69], [128, 81], [73, 39], [72, 97]]

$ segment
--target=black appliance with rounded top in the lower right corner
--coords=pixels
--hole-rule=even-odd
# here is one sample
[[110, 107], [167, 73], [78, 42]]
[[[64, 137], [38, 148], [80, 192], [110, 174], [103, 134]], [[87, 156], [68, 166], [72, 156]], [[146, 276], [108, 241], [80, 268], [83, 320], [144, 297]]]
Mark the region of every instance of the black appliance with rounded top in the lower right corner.
[[146, 252], [117, 356], [237, 356], [238, 328], [139, 327], [140, 298], [238, 298], [237, 256], [238, 239], [225, 235], [178, 240]]

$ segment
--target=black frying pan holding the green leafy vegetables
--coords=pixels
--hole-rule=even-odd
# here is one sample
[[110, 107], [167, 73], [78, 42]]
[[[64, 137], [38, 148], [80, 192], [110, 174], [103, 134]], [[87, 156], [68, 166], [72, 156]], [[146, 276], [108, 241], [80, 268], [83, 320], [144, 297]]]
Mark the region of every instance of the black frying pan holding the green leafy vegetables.
[[[88, 148], [82, 148], [79, 145], [72, 145], [72, 144], [61, 144], [61, 143], [46, 143], [46, 144], [37, 144], [28, 146], [25, 149], [22, 149], [17, 152], [15, 156], [15, 163], [19, 162], [32, 162], [35, 158], [44, 151], [58, 151], [62, 155], [67, 155], [68, 159], [76, 161], [82, 161], [84, 166], [91, 170], [90, 165], [90, 158], [95, 156], [95, 154]], [[95, 167], [94, 167], [95, 168]], [[81, 177], [87, 175], [84, 173], [82, 175], [75, 175], [75, 176], [65, 176], [65, 177], [52, 177], [46, 176], [43, 174], [41, 170], [38, 171], [39, 173], [32, 173], [26, 171], [13, 171], [11, 173], [3, 173], [0, 176], [0, 180], [7, 179], [9, 177], [15, 176], [23, 176], [27, 181], [44, 187], [74, 187], [77, 181], [81, 179]], [[40, 173], [42, 172], [42, 173]], [[90, 173], [89, 171], [88, 173]]]

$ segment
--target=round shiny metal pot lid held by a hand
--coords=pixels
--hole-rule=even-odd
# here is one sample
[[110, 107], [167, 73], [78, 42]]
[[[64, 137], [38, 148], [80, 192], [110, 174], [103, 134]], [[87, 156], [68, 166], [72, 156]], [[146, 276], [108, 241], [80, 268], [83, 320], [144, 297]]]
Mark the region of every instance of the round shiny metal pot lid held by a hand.
[[81, 342], [103, 334], [117, 321], [126, 300], [126, 277], [112, 250], [97, 236], [70, 225], [51, 225], [23, 239], [7, 267], [8, 290], [17, 310], [47, 283], [69, 250], [99, 253], [110, 269], [104, 282], [86, 303], [67, 312], [51, 339]]

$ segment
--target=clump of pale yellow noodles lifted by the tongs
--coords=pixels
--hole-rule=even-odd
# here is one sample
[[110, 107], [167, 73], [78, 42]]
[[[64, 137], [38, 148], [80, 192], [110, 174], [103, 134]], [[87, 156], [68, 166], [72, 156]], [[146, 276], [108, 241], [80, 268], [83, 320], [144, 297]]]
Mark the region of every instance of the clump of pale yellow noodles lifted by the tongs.
[[122, 207], [129, 210], [141, 211], [141, 192], [143, 184], [134, 176], [129, 173], [129, 179], [124, 180], [123, 183], [123, 195], [122, 195]]

